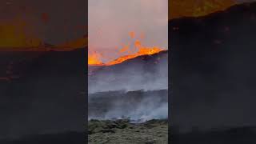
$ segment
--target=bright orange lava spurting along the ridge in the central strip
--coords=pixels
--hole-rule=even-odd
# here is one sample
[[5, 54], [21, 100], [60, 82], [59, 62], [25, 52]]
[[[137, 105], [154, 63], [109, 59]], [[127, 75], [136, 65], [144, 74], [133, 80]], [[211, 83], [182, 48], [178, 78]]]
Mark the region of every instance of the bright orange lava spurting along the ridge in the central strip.
[[[131, 38], [134, 38], [134, 34], [130, 36]], [[123, 47], [121, 50], [119, 50], [118, 54], [123, 54], [125, 52], [128, 52], [128, 55], [120, 56], [119, 58], [115, 59], [114, 61], [103, 63], [101, 61], [102, 54], [98, 54], [97, 52], [93, 52], [89, 54], [88, 56], [88, 65], [90, 66], [111, 66], [116, 65], [118, 63], [124, 62], [131, 58], [136, 58], [141, 55], [150, 55], [150, 54], [156, 54], [162, 51], [161, 48], [158, 48], [156, 46], [154, 47], [145, 47], [141, 45], [141, 42], [139, 40], [136, 40], [134, 42], [134, 47], [136, 48], [136, 51], [134, 54], [131, 54], [131, 50], [129, 46]]]

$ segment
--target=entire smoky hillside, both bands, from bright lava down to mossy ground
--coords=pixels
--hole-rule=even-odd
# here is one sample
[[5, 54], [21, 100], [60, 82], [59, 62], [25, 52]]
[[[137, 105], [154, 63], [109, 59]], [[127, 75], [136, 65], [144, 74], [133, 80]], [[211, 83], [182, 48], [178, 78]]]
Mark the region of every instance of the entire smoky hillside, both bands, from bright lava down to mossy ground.
[[89, 66], [89, 118], [168, 118], [167, 67], [167, 51], [114, 66]]

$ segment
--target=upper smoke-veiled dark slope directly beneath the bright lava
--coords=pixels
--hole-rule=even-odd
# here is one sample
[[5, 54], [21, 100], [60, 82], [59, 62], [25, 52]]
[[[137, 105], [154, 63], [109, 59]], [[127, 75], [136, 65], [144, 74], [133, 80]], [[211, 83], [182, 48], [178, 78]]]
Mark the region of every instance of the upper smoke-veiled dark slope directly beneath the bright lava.
[[149, 62], [142, 61], [142, 58], [145, 56], [115, 66], [89, 66], [89, 94], [114, 90], [168, 89], [168, 53], [154, 54]]

